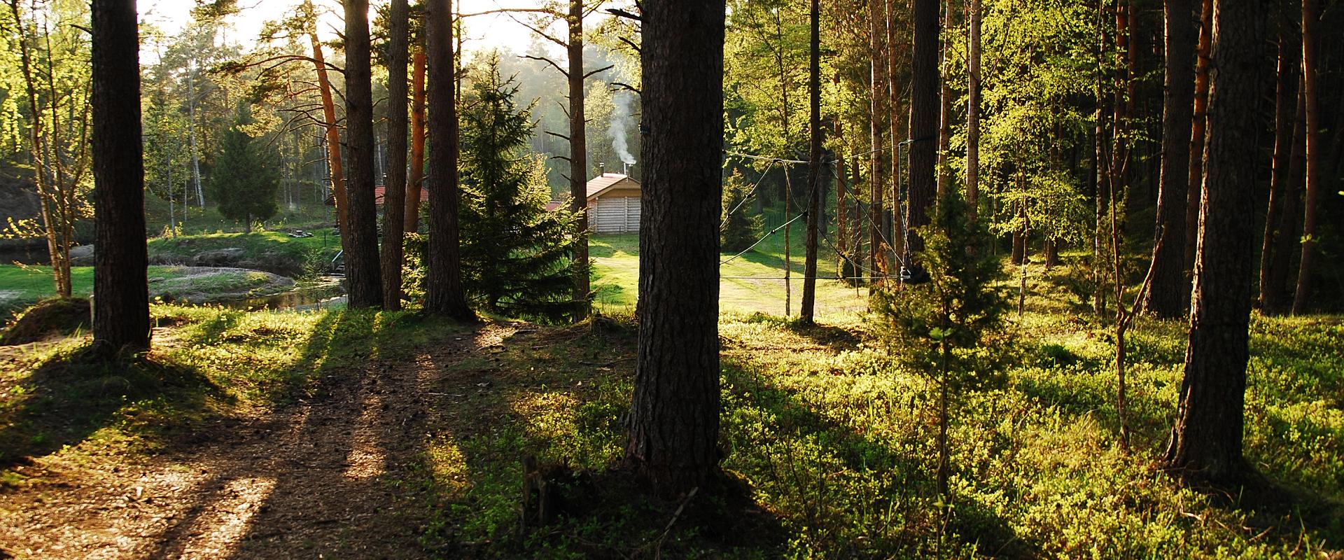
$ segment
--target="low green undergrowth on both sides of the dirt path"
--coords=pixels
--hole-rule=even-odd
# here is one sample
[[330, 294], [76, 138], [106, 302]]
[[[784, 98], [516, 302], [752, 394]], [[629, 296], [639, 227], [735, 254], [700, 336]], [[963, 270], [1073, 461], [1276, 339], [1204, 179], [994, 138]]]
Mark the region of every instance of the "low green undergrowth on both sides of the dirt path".
[[[859, 322], [804, 326], [765, 314], [720, 322], [722, 466], [742, 500], [706, 493], [659, 501], [622, 478], [636, 345], [628, 317], [595, 326], [504, 324], [512, 334], [444, 364], [450, 375], [425, 388], [434, 412], [419, 454], [384, 481], [406, 496], [421, 544], [437, 557], [1340, 555], [1339, 317], [1253, 320], [1246, 455], [1282, 496], [1263, 502], [1181, 487], [1159, 469], [1180, 387], [1181, 322], [1144, 318], [1132, 333], [1126, 454], [1116, 445], [1109, 328], [1075, 313], [1067, 289], [1039, 270], [1030, 290], [1025, 313], [996, 338], [1013, 364], [1004, 383], [952, 403], [946, 502], [933, 475], [929, 376], [890, 356]], [[156, 306], [153, 314], [164, 328], [146, 360], [159, 369], [146, 367], [144, 376], [93, 375], [78, 387], [36, 381], [34, 372], [78, 342], [27, 351], [5, 367], [4, 457], [13, 457], [9, 446], [59, 453], [34, 443], [43, 435], [85, 446], [34, 422], [71, 410], [59, 404], [67, 395], [106, 395], [112, 404], [91, 426], [109, 440], [152, 443], [163, 424], [320, 399], [314, 379], [474, 333], [407, 313]], [[144, 379], [159, 384], [141, 385]], [[554, 467], [569, 504], [558, 521], [524, 533], [526, 455]], [[0, 474], [22, 483], [12, 471]]]

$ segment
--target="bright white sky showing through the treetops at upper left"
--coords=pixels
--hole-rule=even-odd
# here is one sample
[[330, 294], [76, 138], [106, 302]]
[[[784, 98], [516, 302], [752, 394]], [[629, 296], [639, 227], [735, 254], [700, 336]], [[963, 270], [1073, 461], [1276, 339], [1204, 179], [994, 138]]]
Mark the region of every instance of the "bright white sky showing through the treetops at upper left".
[[[280, 19], [281, 15], [298, 1], [238, 0], [242, 12], [230, 16], [235, 31], [227, 39], [243, 46], [250, 44], [261, 31], [262, 23]], [[384, 1], [374, 0], [374, 4], [383, 4]], [[192, 0], [140, 0], [140, 21], [152, 23], [168, 35], [172, 35], [191, 19], [191, 8], [195, 4]], [[341, 20], [336, 16], [336, 12], [340, 11], [339, 0], [314, 0], [314, 4], [320, 8], [325, 7], [332, 12], [323, 19], [323, 27], [319, 28], [319, 32], [324, 38], [335, 35], [343, 27]], [[474, 13], [499, 8], [535, 8], [542, 3], [539, 0], [456, 0], [453, 4], [460, 13]], [[464, 48], [466, 51], [501, 48], [523, 52], [532, 42], [531, 32], [527, 28], [503, 13], [466, 17], [465, 20], [466, 35]]]

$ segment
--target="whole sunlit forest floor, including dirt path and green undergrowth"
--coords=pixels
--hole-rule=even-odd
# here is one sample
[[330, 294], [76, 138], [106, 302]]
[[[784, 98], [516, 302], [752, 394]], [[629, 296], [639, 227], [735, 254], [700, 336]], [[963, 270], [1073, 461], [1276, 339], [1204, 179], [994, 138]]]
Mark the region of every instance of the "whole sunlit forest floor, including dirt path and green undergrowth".
[[[605, 474], [636, 344], [616, 310], [554, 328], [155, 305], [133, 367], [82, 363], [85, 338], [0, 349], [0, 557], [1344, 557], [1344, 321], [1253, 320], [1246, 455], [1281, 496], [1196, 492], [1156, 467], [1183, 325], [1136, 325], [1120, 450], [1109, 326], [1062, 274], [1032, 270], [995, 338], [1012, 365], [957, 392], [950, 502], [934, 377], [857, 314], [726, 309], [742, 504]], [[570, 508], [523, 534], [526, 455]]]

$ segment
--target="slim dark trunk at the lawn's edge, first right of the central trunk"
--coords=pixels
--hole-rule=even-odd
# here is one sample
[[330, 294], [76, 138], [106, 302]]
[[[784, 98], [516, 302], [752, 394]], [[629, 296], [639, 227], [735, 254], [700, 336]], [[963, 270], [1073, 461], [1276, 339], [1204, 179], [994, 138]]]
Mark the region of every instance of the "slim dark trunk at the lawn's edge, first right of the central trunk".
[[808, 236], [802, 265], [802, 305], [798, 316], [810, 324], [817, 301], [817, 234], [821, 227], [821, 3], [812, 0], [810, 62], [808, 66], [808, 106], [810, 130], [808, 161]]

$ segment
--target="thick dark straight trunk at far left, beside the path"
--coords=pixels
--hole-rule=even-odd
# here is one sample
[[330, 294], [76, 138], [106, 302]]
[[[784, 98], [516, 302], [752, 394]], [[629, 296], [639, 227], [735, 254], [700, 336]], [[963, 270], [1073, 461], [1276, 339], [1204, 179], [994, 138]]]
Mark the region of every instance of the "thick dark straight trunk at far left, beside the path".
[[105, 357], [149, 351], [145, 162], [134, 0], [93, 0], [93, 338]]

